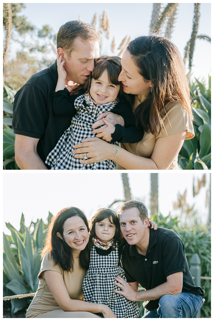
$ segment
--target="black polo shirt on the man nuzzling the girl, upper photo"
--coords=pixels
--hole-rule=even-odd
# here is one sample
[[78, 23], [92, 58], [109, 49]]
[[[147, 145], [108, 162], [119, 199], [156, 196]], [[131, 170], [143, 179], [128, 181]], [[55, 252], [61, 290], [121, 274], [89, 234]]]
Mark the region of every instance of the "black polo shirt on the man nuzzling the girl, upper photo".
[[71, 115], [56, 116], [52, 91], [58, 80], [56, 62], [34, 74], [16, 93], [13, 104], [14, 134], [39, 138], [37, 152], [45, 162], [59, 138], [71, 124]]

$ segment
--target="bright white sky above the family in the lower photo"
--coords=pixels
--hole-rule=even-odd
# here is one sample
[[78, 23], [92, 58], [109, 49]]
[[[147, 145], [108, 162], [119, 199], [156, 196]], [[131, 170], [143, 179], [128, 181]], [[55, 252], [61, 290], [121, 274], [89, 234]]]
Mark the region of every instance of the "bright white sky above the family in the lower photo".
[[[208, 208], [205, 207], [206, 191], [210, 186], [210, 174], [206, 174], [206, 186], [193, 198], [193, 177], [202, 178], [204, 171], [181, 171], [181, 173], [158, 174], [159, 210], [163, 216], [173, 212], [172, 204], [177, 194], [187, 189], [187, 203], [195, 203], [195, 208], [207, 221]], [[123, 200], [124, 192], [119, 171], [48, 171], [29, 173], [29, 171], [4, 171], [4, 210], [3, 231], [10, 234], [5, 221], [16, 229], [20, 228], [21, 213], [26, 226], [31, 220], [42, 218], [46, 221], [48, 211], [56, 215], [67, 206], [81, 208], [88, 219], [99, 208], [108, 207], [114, 200]], [[128, 174], [132, 199], [141, 199], [150, 208], [150, 173], [132, 171]], [[119, 204], [114, 207], [116, 210]]]

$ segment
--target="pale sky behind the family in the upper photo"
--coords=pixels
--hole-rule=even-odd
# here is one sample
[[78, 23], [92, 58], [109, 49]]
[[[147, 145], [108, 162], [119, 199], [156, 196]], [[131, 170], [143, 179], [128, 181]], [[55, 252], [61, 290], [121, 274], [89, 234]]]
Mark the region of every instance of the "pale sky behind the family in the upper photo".
[[[104, 44], [104, 47], [110, 48], [114, 36], [116, 47], [118, 47], [126, 35], [131, 36], [133, 39], [139, 35], [147, 35], [149, 33], [153, 3], [140, 2], [72, 3], [69, 1], [69, 3], [25, 3], [26, 9], [23, 9], [19, 14], [27, 16], [27, 20], [38, 28], [49, 24], [53, 31], [57, 33], [61, 25], [69, 20], [78, 20], [79, 15], [81, 15], [82, 21], [91, 23], [95, 12], [101, 15], [106, 9], [110, 18], [110, 39], [108, 43]], [[211, 36], [211, 4], [201, 3], [200, 13], [198, 34]], [[179, 48], [182, 56], [184, 55], [186, 43], [191, 37], [193, 15], [193, 3], [181, 3], [179, 5], [172, 41]], [[14, 56], [16, 48], [18, 48], [17, 43], [13, 43], [11, 56]], [[106, 53], [111, 54], [108, 51]], [[204, 77], [205, 81], [208, 82], [208, 74], [211, 74], [210, 68], [211, 45], [206, 40], [197, 39], [193, 56], [193, 76], [200, 79]]]

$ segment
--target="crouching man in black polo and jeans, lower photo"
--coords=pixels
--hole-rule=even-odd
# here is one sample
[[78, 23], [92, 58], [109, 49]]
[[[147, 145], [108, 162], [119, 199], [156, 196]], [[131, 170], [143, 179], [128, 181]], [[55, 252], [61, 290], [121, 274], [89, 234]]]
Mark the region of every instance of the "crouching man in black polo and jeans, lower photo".
[[[121, 257], [128, 283], [116, 277], [122, 292], [115, 292], [130, 301], [145, 301], [144, 318], [196, 317], [204, 292], [194, 285], [179, 236], [160, 227], [150, 229], [147, 209], [139, 201], [124, 203], [119, 219], [128, 243]], [[138, 292], [139, 283], [146, 291]]]

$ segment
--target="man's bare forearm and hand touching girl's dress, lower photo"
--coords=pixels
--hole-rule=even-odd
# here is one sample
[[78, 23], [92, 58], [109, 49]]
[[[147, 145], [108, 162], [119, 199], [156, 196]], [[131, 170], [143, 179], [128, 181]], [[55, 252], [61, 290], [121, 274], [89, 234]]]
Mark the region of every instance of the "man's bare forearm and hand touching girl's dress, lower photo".
[[167, 282], [158, 285], [156, 288], [136, 292], [122, 279], [120, 276], [116, 277], [114, 282], [122, 291], [114, 290], [116, 293], [123, 295], [126, 299], [130, 301], [147, 301], [160, 299], [163, 295], [171, 294], [177, 295], [181, 293], [183, 286], [183, 272], [178, 272], [167, 276]]

